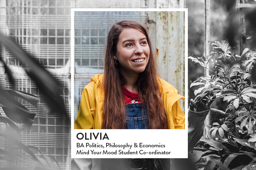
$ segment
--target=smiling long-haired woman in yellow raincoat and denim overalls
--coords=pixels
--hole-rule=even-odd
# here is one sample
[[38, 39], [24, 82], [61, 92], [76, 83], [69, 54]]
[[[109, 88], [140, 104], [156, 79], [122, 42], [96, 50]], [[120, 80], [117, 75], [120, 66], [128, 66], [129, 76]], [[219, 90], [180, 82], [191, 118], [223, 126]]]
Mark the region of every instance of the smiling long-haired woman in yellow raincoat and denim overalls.
[[108, 33], [104, 74], [84, 87], [74, 129], [184, 129], [184, 97], [157, 76], [145, 26], [115, 23]]

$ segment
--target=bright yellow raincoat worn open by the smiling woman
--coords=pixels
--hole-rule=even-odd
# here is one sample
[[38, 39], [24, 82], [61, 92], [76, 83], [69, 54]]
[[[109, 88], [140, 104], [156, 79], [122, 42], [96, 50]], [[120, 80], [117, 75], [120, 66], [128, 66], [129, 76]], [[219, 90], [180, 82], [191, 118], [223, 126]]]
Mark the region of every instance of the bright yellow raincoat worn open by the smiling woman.
[[[91, 83], [84, 87], [74, 129], [101, 129], [104, 101], [103, 75], [93, 76]], [[169, 129], [185, 129], [185, 115], [179, 102], [179, 99], [184, 100], [185, 97], [178, 94], [178, 90], [166, 81], [162, 79], [160, 81], [160, 92], [164, 100]]]

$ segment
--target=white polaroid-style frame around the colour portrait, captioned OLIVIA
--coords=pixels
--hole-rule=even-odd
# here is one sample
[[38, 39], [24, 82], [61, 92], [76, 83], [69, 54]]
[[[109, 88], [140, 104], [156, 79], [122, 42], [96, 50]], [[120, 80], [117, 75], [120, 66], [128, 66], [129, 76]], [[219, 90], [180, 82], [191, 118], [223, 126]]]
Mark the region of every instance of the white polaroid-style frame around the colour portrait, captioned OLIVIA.
[[[164, 142], [166, 143], [170, 143], [170, 146], [172, 146], [173, 151], [175, 151], [175, 154], [172, 154], [171, 156], [165, 156], [165, 158], [188, 158], [188, 9], [187, 8], [171, 8], [171, 9], [165, 9], [165, 8], [115, 8], [115, 9], [111, 9], [111, 8], [71, 8], [71, 151], [76, 150], [76, 142], [78, 141], [78, 139], [76, 138], [76, 134], [81, 132], [81, 133], [90, 133], [90, 132], [95, 132], [97, 133], [98, 130], [94, 129], [74, 129], [74, 12], [75, 11], [185, 11], [185, 129], [183, 130], [169, 130], [167, 131], [168, 133], [166, 133], [166, 130], [146, 130], [146, 133], [151, 134], [150, 137], [148, 139], [141, 139], [141, 141], [139, 142], [144, 142], [146, 141], [150, 141], [152, 144], [153, 143], [159, 143], [159, 137], [158, 138], [154, 138], [154, 136], [164, 136], [165, 138], [161, 138], [163, 140], [165, 140]], [[118, 130], [118, 129], [112, 129], [112, 130], [104, 130], [104, 129], [100, 129], [99, 132], [102, 132], [103, 134], [105, 134], [106, 132], [108, 132], [108, 136], [114, 136], [115, 138], [118, 138], [118, 135], [123, 136], [123, 133], [125, 132], [125, 134], [129, 135], [129, 134], [133, 134], [133, 136], [140, 136], [141, 132], [145, 132], [141, 131], [141, 130]], [[134, 135], [135, 133], [135, 135]], [[166, 138], [169, 137], [168, 139]], [[114, 138], [113, 137], [113, 138]], [[161, 140], [160, 139], [160, 140]], [[116, 139], [118, 140], [118, 139]], [[168, 140], [168, 141], [166, 141]], [[120, 141], [122, 141], [122, 139], [120, 139]], [[117, 143], [120, 141], [116, 141]], [[134, 139], [134, 138], [130, 138], [128, 141], [126, 142], [130, 142], [130, 143], [134, 143], [135, 141], [138, 141], [138, 139]], [[82, 142], [85, 142], [84, 140]], [[88, 141], [87, 141], [88, 142]], [[91, 141], [89, 141], [91, 142]], [[98, 141], [92, 141], [92, 142], [98, 142]], [[100, 141], [101, 142], [101, 141]], [[106, 142], [106, 141], [105, 141]], [[115, 141], [110, 141], [110, 142], [115, 142]], [[182, 147], [178, 147], [177, 146], [182, 146]], [[172, 150], [171, 148], [171, 150]], [[179, 152], [180, 151], [180, 152]], [[73, 153], [73, 152], [72, 152]], [[130, 158], [131, 156], [127, 155], [106, 155], [106, 156], [99, 156], [96, 155], [94, 156], [86, 156], [83, 155], [82, 157], [77, 157], [74, 156], [71, 153], [71, 157], [72, 158]], [[134, 156], [132, 156], [134, 157]], [[135, 156], [136, 157], [136, 156]], [[144, 156], [144, 158], [160, 158], [162, 156], [159, 155], [151, 155], [151, 156]]]

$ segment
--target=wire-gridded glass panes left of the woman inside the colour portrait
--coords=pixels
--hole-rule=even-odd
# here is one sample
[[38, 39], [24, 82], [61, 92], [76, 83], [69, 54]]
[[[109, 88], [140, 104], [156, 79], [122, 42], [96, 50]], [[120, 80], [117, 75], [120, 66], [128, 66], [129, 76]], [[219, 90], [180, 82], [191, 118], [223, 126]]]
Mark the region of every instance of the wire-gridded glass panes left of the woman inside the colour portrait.
[[147, 25], [140, 11], [75, 11], [74, 14], [74, 120], [82, 91], [97, 73], [103, 73], [104, 48], [108, 30], [116, 21], [135, 20]]

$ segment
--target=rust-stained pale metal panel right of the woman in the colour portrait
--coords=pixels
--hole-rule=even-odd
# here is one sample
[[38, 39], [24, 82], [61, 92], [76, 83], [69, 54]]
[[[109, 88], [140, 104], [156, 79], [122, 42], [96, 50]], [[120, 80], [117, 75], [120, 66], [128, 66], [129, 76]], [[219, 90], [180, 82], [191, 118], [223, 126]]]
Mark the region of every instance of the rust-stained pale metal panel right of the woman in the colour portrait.
[[[185, 12], [159, 11], [156, 15], [156, 56], [161, 78], [185, 95]], [[180, 100], [185, 111], [185, 102]]]

